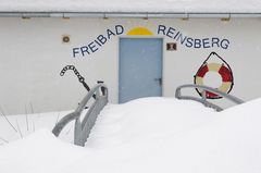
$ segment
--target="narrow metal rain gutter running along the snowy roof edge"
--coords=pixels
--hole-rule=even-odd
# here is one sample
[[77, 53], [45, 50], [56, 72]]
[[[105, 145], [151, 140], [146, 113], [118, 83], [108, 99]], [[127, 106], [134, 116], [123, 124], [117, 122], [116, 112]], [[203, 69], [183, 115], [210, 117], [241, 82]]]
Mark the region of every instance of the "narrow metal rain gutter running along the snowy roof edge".
[[232, 18], [261, 17], [260, 13], [219, 12], [0, 12], [0, 17], [100, 17], [100, 18]]

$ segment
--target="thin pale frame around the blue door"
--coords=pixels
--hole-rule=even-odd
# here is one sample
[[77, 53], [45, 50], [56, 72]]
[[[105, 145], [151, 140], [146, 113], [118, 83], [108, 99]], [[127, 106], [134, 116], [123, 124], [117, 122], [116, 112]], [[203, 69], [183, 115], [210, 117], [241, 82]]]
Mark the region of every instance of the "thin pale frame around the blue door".
[[120, 57], [120, 44], [121, 44], [121, 39], [122, 38], [148, 38], [148, 39], [151, 39], [151, 38], [159, 38], [159, 39], [162, 39], [162, 65], [161, 65], [161, 74], [162, 74], [162, 76], [161, 76], [161, 97], [162, 96], [164, 96], [164, 83], [165, 83], [165, 69], [164, 69], [164, 66], [165, 66], [165, 39], [164, 39], [164, 37], [162, 37], [162, 36], [121, 36], [121, 37], [117, 37], [117, 97], [116, 97], [116, 101], [117, 101], [117, 103], [119, 103], [119, 100], [120, 100], [120, 90], [119, 90], [119, 88], [120, 88], [120, 59], [121, 59], [121, 57]]

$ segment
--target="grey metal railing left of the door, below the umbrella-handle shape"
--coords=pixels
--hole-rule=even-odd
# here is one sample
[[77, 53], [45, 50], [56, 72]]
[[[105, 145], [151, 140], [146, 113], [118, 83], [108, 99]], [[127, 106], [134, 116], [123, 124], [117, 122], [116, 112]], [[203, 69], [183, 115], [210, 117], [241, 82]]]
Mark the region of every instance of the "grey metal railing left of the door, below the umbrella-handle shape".
[[[86, 108], [87, 103], [90, 102], [89, 100], [92, 98], [94, 95], [96, 95], [95, 101], [88, 108], [88, 111], [85, 114], [85, 116], [80, 119], [84, 109]], [[108, 88], [103, 84], [98, 84], [97, 86], [89, 90], [89, 92], [79, 102], [78, 107], [75, 109], [74, 112], [69, 113], [57, 123], [57, 125], [52, 129], [52, 133], [55, 136], [59, 136], [61, 131], [65, 127], [65, 125], [75, 120], [74, 144], [77, 146], [84, 146], [90, 134], [90, 129], [95, 125], [98, 114], [107, 103], [108, 103]]]

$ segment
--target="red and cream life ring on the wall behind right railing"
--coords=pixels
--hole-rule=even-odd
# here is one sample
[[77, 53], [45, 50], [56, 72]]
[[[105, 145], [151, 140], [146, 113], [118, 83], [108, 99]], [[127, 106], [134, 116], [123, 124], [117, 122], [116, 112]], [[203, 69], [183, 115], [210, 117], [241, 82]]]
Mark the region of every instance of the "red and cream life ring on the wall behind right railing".
[[[221, 91], [228, 94], [233, 88], [233, 73], [229, 67], [226, 67], [224, 64], [219, 63], [204, 63], [196, 73], [195, 75], [195, 84], [196, 85], [203, 85], [203, 77], [208, 72], [216, 72], [222, 77], [222, 84], [217, 88]], [[198, 94], [202, 96], [202, 91], [197, 89]], [[220, 99], [221, 96], [206, 91], [206, 98], [208, 99]]]

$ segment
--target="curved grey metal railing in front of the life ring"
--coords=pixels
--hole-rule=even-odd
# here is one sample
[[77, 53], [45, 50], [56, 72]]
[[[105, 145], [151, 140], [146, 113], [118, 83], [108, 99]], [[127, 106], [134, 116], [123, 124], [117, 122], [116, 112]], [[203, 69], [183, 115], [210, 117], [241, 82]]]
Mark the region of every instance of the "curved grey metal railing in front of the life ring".
[[[201, 98], [198, 98], [198, 97], [194, 97], [194, 96], [182, 96], [182, 89], [183, 88], [195, 88], [195, 89], [200, 89], [202, 90], [201, 92]], [[245, 101], [235, 97], [235, 96], [232, 96], [232, 95], [228, 95], [226, 92], [223, 92], [219, 89], [215, 89], [215, 88], [211, 88], [211, 87], [208, 87], [208, 86], [203, 86], [203, 85], [194, 85], [194, 84], [186, 84], [186, 85], [182, 85], [179, 87], [176, 88], [176, 92], [175, 92], [175, 97], [177, 99], [184, 99], [184, 100], [195, 100], [195, 101], [198, 101], [198, 102], [201, 102], [202, 104], [204, 104], [206, 107], [209, 107], [209, 108], [213, 108], [214, 110], [216, 111], [222, 111], [223, 108], [210, 102], [207, 100], [207, 97], [206, 97], [206, 92], [209, 91], [209, 92], [213, 92], [215, 95], [219, 95], [223, 98], [226, 98], [228, 99], [229, 101], [236, 103], [236, 104], [240, 104], [240, 103], [244, 103]]]

